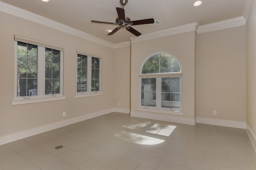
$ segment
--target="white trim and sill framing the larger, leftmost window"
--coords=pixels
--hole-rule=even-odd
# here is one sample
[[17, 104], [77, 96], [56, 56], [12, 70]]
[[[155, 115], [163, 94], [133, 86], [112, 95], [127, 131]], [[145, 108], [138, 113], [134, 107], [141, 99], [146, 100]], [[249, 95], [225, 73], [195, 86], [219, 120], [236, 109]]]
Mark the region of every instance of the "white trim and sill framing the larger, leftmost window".
[[[22, 96], [17, 97], [17, 69], [18, 69], [18, 41], [24, 42], [24, 43], [31, 43], [33, 45], [38, 45], [38, 48], [46, 47], [46, 48], [52, 48], [60, 50], [60, 94], [50, 94], [45, 95], [44, 92], [40, 92], [40, 87], [44, 84], [38, 84], [38, 94], [41, 94], [41, 96]], [[52, 45], [50, 43], [44, 43], [37, 40], [32, 40], [24, 37], [20, 37], [17, 35], [14, 35], [14, 98], [11, 101], [12, 105], [19, 105], [19, 104], [30, 104], [30, 103], [38, 103], [38, 102], [47, 102], [47, 101], [54, 101], [54, 100], [64, 100], [66, 99], [66, 96], [63, 95], [63, 55], [64, 55], [64, 47], [60, 47], [57, 45]], [[44, 74], [45, 72], [42, 71], [44, 68], [45, 61], [43, 62], [40, 60], [40, 57], [38, 57], [38, 81], [44, 82]], [[41, 64], [40, 64], [41, 63]], [[43, 72], [43, 73], [42, 73]], [[39, 76], [41, 74], [41, 76]], [[44, 87], [45, 88], [45, 87]], [[42, 89], [41, 89], [42, 90]]]

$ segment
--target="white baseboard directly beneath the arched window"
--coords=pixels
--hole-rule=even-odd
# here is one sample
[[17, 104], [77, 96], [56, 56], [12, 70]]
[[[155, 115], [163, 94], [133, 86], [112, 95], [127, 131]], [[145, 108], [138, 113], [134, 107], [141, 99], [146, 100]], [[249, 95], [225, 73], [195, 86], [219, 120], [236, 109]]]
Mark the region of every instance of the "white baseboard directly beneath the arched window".
[[[131, 116], [141, 117], [146, 119], [153, 119], [153, 120], [169, 121], [174, 123], [182, 123], [187, 125], [196, 125], [195, 119], [187, 119], [182, 117], [172, 117], [172, 116], [156, 115], [152, 113], [140, 113], [140, 112], [134, 112], [134, 111], [131, 111]], [[158, 119], [159, 117], [161, 117], [162, 119]]]

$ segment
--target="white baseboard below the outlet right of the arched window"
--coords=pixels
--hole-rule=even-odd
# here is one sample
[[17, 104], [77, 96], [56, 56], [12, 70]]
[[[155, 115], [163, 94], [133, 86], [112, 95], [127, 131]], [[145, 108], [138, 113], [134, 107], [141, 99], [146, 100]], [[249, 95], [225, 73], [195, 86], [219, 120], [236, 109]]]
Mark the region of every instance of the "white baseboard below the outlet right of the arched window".
[[208, 125], [218, 125], [226, 127], [235, 127], [240, 129], [245, 129], [245, 122], [240, 121], [230, 121], [230, 120], [221, 120], [221, 119], [208, 119], [203, 117], [196, 117], [197, 123], [204, 123]]

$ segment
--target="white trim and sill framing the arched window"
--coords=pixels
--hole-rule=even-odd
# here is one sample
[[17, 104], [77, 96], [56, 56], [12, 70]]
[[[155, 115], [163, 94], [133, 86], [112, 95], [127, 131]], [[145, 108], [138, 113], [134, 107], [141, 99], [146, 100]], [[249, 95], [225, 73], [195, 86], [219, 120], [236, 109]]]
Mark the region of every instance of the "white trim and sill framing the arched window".
[[[170, 54], [170, 53], [164, 53], [164, 52], [158, 52], [158, 53], [154, 53], [152, 55], [150, 55], [150, 57], [147, 57], [143, 63], [140, 66], [140, 72], [139, 72], [139, 106], [137, 107], [138, 111], [150, 111], [150, 112], [154, 112], [154, 113], [166, 113], [166, 114], [174, 114], [174, 115], [183, 115], [183, 111], [182, 111], [182, 69], [180, 66], [180, 62], [178, 61], [178, 64], [180, 66], [180, 72], [168, 72], [168, 73], [147, 73], [147, 74], [142, 74], [142, 69], [144, 64], [146, 63], [146, 61], [148, 61], [148, 59], [150, 59], [151, 57], [153, 57], [154, 55], [158, 55], [158, 54], [166, 54], [166, 55], [170, 55], [171, 57], [174, 57], [177, 61], [178, 59]], [[141, 81], [142, 78], [156, 78], [156, 79], [162, 79], [162, 78], [167, 78], [167, 77], [180, 77], [180, 108], [179, 109], [173, 109], [173, 108], [164, 108], [161, 107], [161, 103], [156, 103], [156, 107], [153, 106], [142, 106], [142, 101], [141, 101]], [[157, 83], [158, 80], [156, 80], [156, 86], [161, 86], [162, 84], [158, 84]], [[162, 81], [161, 81], [162, 82]], [[156, 91], [161, 90], [161, 88], [157, 88]], [[159, 93], [159, 92], [158, 92]], [[159, 99], [157, 98], [156, 100], [158, 100], [158, 102], [162, 102], [162, 100], [159, 101]]]

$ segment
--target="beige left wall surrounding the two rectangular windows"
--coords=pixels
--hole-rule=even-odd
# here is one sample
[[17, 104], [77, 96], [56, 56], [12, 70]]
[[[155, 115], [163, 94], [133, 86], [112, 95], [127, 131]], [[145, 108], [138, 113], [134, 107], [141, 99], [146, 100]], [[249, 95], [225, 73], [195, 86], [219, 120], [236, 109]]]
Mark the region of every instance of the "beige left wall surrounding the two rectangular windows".
[[[0, 137], [114, 108], [114, 49], [0, 12]], [[14, 96], [14, 35], [64, 47], [66, 100], [11, 106]], [[75, 98], [76, 50], [102, 56], [103, 96]], [[66, 117], [62, 112], [66, 111]]]

